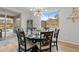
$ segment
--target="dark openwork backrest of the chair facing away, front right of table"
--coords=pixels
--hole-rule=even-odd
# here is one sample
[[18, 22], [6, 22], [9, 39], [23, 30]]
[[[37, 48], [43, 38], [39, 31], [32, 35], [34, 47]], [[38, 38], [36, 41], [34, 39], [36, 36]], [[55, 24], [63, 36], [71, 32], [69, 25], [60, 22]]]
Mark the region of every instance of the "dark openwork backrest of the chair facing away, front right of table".
[[53, 31], [51, 31], [51, 32], [41, 32], [40, 37], [41, 38], [44, 37], [45, 40], [42, 41], [42, 43], [40, 44], [40, 46], [49, 45], [49, 49], [51, 51], [52, 36], [53, 36]]

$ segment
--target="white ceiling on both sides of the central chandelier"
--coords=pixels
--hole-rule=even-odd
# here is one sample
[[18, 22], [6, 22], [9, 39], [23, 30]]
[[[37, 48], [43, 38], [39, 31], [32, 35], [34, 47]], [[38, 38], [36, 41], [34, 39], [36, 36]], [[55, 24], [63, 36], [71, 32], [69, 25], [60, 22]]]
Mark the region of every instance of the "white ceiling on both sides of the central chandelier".
[[[30, 9], [34, 7], [0, 7], [0, 14], [7, 14], [10, 16], [17, 16], [21, 14], [22, 12], [26, 13], [32, 13]], [[46, 12], [49, 11], [57, 11], [59, 7], [42, 7], [43, 9], [46, 9]]]

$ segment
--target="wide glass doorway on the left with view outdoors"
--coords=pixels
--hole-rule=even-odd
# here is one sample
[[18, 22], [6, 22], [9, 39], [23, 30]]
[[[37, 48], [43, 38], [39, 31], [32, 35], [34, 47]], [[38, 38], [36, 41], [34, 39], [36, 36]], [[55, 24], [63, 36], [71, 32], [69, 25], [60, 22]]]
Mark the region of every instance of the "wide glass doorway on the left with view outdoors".
[[20, 26], [20, 14], [0, 8], [0, 40], [15, 37], [16, 28]]

